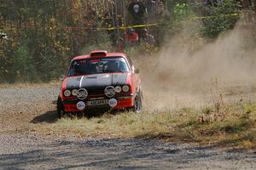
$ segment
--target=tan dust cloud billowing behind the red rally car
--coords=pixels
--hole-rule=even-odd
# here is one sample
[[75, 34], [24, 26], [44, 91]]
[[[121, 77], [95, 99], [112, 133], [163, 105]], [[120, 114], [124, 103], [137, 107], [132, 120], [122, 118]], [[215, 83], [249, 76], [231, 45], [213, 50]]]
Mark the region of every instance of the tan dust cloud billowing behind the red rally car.
[[223, 87], [236, 91], [236, 86], [256, 82], [253, 31], [236, 27], [214, 42], [197, 35], [183, 29], [166, 38], [160, 53], [133, 59], [143, 80], [144, 109], [200, 107], [225, 93]]

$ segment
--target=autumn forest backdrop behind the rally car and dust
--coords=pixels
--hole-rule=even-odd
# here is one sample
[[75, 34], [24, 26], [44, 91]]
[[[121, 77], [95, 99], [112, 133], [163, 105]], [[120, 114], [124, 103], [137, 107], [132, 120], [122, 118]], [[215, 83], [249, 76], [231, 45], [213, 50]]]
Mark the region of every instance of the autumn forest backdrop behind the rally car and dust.
[[[0, 83], [50, 82], [67, 71], [69, 59], [93, 49], [116, 51], [131, 25], [129, 0], [0, 0]], [[254, 29], [256, 0], [163, 0], [164, 11], [149, 20], [154, 48], [125, 47], [130, 55], [155, 54], [181, 26], [197, 26], [194, 41], [214, 41], [239, 20]], [[120, 5], [121, 4], [121, 5]], [[106, 15], [112, 11], [112, 14]], [[106, 20], [108, 25], [106, 25]], [[189, 24], [188, 24], [189, 23]], [[167, 39], [168, 38], [168, 39]], [[192, 41], [193, 42], [193, 41]], [[193, 48], [193, 50], [196, 50]]]

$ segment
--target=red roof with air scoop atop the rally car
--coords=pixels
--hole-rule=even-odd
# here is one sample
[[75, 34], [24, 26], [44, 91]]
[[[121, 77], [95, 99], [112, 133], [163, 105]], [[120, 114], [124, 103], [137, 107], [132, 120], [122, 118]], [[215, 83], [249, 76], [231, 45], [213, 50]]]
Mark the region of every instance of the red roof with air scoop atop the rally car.
[[86, 54], [86, 55], [79, 55], [76, 57], [73, 57], [73, 60], [77, 60], [77, 59], [96, 59], [96, 58], [103, 58], [103, 57], [125, 57], [127, 58], [126, 54], [123, 53], [108, 53], [107, 51], [103, 51], [103, 50], [96, 50], [96, 51], [91, 51], [90, 54]]

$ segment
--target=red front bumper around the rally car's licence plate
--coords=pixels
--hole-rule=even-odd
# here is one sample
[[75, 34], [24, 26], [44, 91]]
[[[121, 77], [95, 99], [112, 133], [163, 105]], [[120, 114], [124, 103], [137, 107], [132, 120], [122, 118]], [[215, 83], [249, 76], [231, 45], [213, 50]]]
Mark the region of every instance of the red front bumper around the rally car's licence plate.
[[[97, 99], [107, 99], [107, 98], [91, 98], [91, 99], [84, 99], [84, 100], [80, 100], [80, 99], [68, 99], [68, 100], [63, 100], [63, 106], [64, 106], [64, 110], [66, 112], [79, 112], [80, 110], [77, 108], [77, 103], [79, 101], [84, 101], [84, 103], [86, 104], [88, 101], [93, 101], [93, 100], [97, 100]], [[111, 99], [116, 99], [117, 100], [117, 105], [115, 107], [113, 107], [114, 110], [118, 110], [118, 109], [125, 109], [125, 108], [129, 108], [132, 107], [134, 105], [133, 101], [133, 96], [130, 95], [122, 95], [122, 96], [116, 96], [113, 97]], [[85, 105], [85, 109], [89, 110], [89, 109], [111, 109], [111, 107], [109, 105]]]

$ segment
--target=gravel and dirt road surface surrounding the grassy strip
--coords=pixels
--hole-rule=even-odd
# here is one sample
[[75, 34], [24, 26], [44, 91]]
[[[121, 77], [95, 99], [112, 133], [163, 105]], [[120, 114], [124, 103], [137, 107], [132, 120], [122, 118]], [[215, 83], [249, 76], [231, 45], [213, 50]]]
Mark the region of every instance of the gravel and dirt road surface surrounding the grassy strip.
[[[255, 89], [253, 83], [248, 86], [223, 88], [224, 95], [246, 98]], [[31, 125], [57, 120], [58, 92], [0, 88], [0, 169], [256, 169], [256, 153], [248, 151], [156, 139], [56, 139], [34, 134]]]

